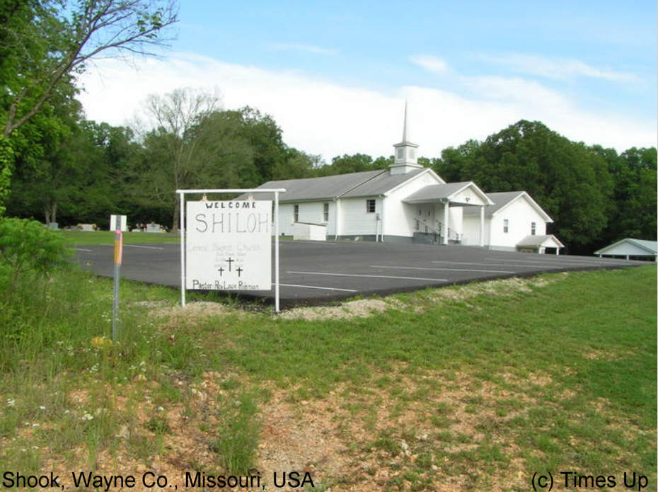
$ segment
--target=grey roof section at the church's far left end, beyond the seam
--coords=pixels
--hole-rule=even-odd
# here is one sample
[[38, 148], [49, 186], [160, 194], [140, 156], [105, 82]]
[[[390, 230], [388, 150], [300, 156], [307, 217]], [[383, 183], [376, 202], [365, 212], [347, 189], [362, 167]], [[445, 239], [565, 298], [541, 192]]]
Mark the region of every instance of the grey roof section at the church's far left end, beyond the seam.
[[[263, 183], [258, 188], [285, 188], [286, 193], [279, 194], [279, 200], [282, 202], [333, 200], [381, 174], [388, 175], [388, 171], [386, 169], [377, 169], [376, 171], [337, 174], [335, 176], [323, 176], [321, 178], [267, 181], [267, 183]], [[258, 193], [258, 198], [272, 200], [274, 194]]]

